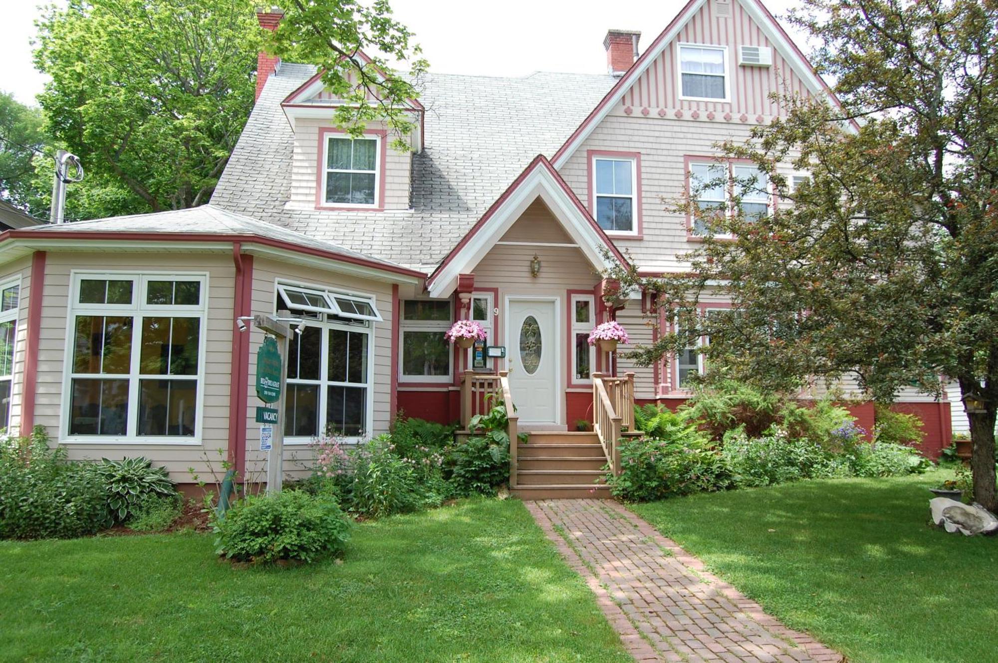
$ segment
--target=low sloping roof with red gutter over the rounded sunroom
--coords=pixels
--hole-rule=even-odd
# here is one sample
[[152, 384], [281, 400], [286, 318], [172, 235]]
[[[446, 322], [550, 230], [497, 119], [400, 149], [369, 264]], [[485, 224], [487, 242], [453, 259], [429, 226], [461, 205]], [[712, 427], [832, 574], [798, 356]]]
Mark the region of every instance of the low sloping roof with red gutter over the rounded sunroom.
[[[214, 205], [7, 231], [0, 234], [0, 249], [6, 249], [2, 245], [12, 240], [26, 247], [51, 245], [63, 248], [82, 248], [80, 243], [85, 241], [142, 244], [241, 242], [398, 275], [404, 277], [407, 283], [422, 282], [424, 277], [395, 263], [371, 258]], [[60, 244], [62, 241], [66, 243]]]

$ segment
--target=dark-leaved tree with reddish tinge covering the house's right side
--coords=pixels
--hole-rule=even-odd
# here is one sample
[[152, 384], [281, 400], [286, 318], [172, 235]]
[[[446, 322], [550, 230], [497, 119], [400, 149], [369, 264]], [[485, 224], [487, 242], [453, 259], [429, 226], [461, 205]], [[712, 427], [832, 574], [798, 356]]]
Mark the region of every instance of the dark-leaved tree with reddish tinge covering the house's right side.
[[[815, 62], [842, 105], [784, 96], [785, 117], [722, 146], [766, 173], [775, 214], [745, 214], [759, 181], [737, 180], [734, 212], [678, 204], [707, 229], [691, 274], [614, 271], [679, 322], [637, 355], [651, 362], [707, 334], [715, 372], [770, 388], [854, 373], [880, 401], [909, 384], [938, 393], [951, 376], [982, 403], [967, 408], [974, 492], [996, 510], [998, 5], [803, 5], [792, 20], [823, 44]], [[790, 186], [777, 167], [788, 163], [809, 182]], [[733, 311], [699, 315], [718, 292]]]

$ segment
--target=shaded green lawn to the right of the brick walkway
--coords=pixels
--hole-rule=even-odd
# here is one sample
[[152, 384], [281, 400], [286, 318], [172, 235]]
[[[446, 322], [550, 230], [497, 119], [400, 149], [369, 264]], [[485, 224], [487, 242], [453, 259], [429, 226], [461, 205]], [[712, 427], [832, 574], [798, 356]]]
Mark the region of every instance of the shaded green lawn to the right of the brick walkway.
[[767, 612], [850, 663], [998, 657], [998, 538], [931, 525], [952, 472], [801, 481], [634, 506]]

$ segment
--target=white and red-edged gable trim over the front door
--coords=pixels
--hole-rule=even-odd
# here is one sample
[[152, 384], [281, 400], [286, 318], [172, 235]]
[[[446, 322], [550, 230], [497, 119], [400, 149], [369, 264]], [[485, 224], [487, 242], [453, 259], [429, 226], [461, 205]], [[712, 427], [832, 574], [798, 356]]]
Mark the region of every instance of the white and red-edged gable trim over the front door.
[[626, 263], [551, 162], [544, 155], [537, 155], [426, 280], [430, 296], [447, 297], [454, 292], [458, 277], [473, 272], [496, 241], [538, 198], [544, 201], [593, 267], [601, 270], [613, 267], [613, 260], [608, 259], [602, 249], [608, 249], [621, 264]]

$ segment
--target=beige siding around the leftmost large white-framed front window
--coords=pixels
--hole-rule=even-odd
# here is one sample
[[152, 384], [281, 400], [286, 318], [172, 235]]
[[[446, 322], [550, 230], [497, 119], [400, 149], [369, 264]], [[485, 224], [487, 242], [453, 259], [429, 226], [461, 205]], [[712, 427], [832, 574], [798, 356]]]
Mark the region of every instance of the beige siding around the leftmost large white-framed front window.
[[[66, 354], [69, 289], [74, 270], [105, 272], [186, 272], [208, 274], [208, 312], [201, 444], [78, 443], [66, 444], [73, 459], [146, 456], [166, 465], [175, 481], [190, 482], [189, 467], [212, 481], [210, 470], [221, 476], [221, 460], [229, 444], [229, 379], [232, 366], [233, 289], [231, 256], [150, 254], [49, 253], [45, 266], [45, 295], [39, 338], [35, 422], [44, 425], [53, 440], [64, 441], [61, 403]], [[220, 456], [220, 451], [222, 455]]]

